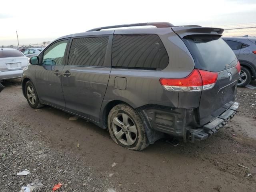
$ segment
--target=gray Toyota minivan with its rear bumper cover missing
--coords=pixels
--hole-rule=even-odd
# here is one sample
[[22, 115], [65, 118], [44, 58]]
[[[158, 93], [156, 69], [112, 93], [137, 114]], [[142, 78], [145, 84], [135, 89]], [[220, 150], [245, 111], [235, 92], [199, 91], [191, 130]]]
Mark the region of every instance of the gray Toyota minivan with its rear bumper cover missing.
[[30, 58], [23, 94], [32, 108], [50, 105], [90, 120], [131, 150], [164, 134], [204, 140], [239, 105], [240, 64], [222, 32], [159, 22], [63, 36]]

